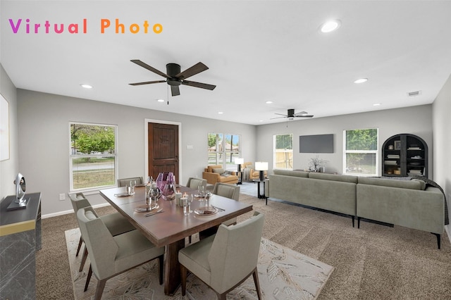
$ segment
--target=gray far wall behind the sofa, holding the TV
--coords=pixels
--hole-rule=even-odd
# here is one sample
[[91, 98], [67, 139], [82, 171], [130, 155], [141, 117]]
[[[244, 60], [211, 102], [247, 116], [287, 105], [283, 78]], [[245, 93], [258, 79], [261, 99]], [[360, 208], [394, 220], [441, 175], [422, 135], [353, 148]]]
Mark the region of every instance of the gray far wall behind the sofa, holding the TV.
[[[288, 123], [273, 125], [260, 125], [257, 128], [257, 158], [273, 165], [273, 135], [293, 134], [293, 168], [307, 169], [309, 159], [316, 154], [299, 153], [299, 135], [334, 135], [334, 153], [319, 154], [328, 163], [326, 172], [342, 173], [343, 166], [343, 130], [378, 128], [378, 149], [388, 137], [399, 133], [412, 133], [418, 135], [429, 150], [429, 177], [433, 174], [433, 142], [432, 142], [432, 106], [412, 106], [409, 108], [390, 109], [385, 111], [372, 111], [369, 113], [354, 113], [350, 115], [337, 115], [328, 118], [312, 118], [293, 120]], [[381, 158], [379, 158], [379, 175], [381, 175]], [[271, 171], [270, 171], [271, 172]]]

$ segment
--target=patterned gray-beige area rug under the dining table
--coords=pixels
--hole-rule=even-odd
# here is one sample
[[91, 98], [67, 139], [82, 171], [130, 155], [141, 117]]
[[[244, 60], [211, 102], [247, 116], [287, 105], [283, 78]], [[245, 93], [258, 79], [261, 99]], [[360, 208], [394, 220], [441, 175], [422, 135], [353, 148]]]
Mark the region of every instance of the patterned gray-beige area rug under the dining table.
[[[84, 246], [80, 250], [80, 255], [75, 257], [80, 230], [78, 228], [67, 230], [65, 235], [75, 300], [93, 299], [97, 285], [94, 275], [87, 291], [83, 292], [89, 270], [89, 258], [82, 272], [78, 272]], [[197, 241], [196, 237], [192, 239], [192, 242]], [[333, 272], [333, 267], [262, 238], [257, 270], [263, 299], [301, 300], [316, 299]], [[152, 261], [108, 280], [102, 299], [211, 300], [216, 299], [216, 294], [197, 277], [189, 275], [185, 297], [182, 296], [181, 289], [178, 289], [174, 296], [165, 296], [163, 285], [158, 283], [156, 261]], [[230, 292], [227, 299], [257, 299], [252, 276]]]

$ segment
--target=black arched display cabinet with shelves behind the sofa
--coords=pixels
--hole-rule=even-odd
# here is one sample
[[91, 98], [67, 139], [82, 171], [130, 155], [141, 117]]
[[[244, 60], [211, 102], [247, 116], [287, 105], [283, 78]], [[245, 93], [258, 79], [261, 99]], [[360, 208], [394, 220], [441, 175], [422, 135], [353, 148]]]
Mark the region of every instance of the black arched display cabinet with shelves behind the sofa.
[[393, 135], [382, 146], [382, 175], [428, 177], [428, 145], [408, 133]]

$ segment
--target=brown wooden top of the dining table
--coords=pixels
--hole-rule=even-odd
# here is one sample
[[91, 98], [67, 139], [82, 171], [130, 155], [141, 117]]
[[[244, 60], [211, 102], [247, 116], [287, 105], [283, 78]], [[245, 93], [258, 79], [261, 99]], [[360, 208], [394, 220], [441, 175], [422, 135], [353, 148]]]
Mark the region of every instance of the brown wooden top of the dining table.
[[[145, 202], [145, 187], [135, 187], [135, 194], [131, 196], [115, 196], [125, 192], [125, 187], [101, 189], [101, 196], [106, 199], [117, 211], [122, 213], [130, 223], [135, 225], [142, 234], [156, 246], [166, 246], [180, 239], [194, 235], [223, 223], [230, 218], [252, 211], [252, 205], [241, 203], [223, 196], [213, 195], [209, 199], [210, 206], [222, 208], [213, 215], [198, 215], [194, 210], [206, 205], [204, 199], [194, 198], [191, 204], [193, 211], [189, 215], [183, 214], [183, 207], [178, 206], [175, 200], [159, 199], [157, 204], [163, 211], [156, 215], [146, 217], [147, 213], [137, 212], [136, 208], [143, 207]], [[197, 190], [177, 186], [182, 194], [196, 194]]]

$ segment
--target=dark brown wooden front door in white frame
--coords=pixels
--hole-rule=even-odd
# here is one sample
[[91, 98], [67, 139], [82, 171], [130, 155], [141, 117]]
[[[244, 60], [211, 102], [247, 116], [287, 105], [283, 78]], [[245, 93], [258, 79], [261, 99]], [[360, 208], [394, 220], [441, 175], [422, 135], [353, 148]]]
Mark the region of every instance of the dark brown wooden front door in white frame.
[[178, 180], [178, 125], [148, 123], [149, 176], [172, 172]]

